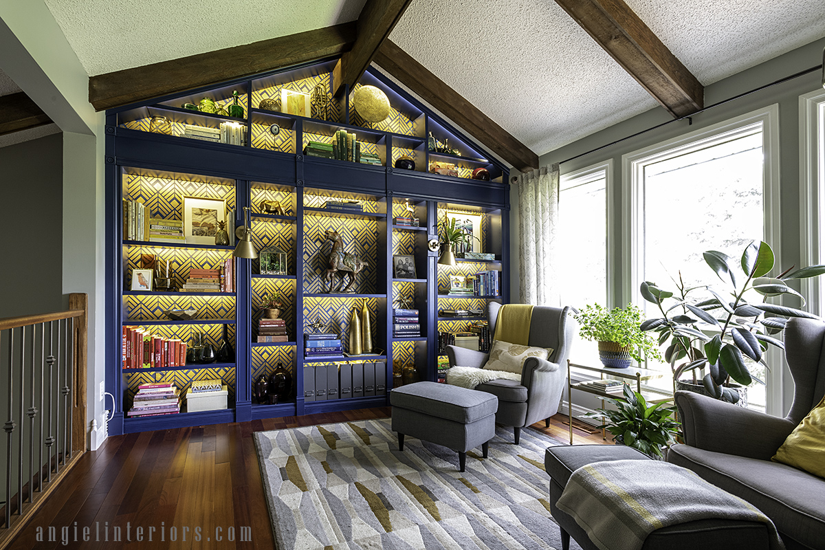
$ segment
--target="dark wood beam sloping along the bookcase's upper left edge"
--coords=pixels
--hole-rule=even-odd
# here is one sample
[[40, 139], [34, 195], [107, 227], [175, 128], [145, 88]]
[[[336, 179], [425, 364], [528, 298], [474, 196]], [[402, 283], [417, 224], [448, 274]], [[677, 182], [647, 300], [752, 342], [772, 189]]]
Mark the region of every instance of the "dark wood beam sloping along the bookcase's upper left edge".
[[111, 109], [153, 97], [341, 55], [356, 41], [356, 22], [218, 49], [89, 78], [89, 102]]

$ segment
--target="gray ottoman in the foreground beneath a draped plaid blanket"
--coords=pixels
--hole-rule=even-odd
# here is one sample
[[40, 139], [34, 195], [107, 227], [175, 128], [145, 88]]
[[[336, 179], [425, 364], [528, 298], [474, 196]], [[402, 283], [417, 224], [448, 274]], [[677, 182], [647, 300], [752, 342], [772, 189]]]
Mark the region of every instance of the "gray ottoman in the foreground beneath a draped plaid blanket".
[[[559, 445], [544, 453], [544, 469], [550, 476], [550, 513], [559, 524], [562, 550], [569, 550], [570, 537], [583, 550], [598, 550], [576, 520], [556, 507], [564, 486], [578, 468], [603, 460], [650, 460], [636, 449], [624, 445]], [[734, 519], [702, 519], [657, 529], [648, 535], [642, 550], [767, 550], [766, 524]]]

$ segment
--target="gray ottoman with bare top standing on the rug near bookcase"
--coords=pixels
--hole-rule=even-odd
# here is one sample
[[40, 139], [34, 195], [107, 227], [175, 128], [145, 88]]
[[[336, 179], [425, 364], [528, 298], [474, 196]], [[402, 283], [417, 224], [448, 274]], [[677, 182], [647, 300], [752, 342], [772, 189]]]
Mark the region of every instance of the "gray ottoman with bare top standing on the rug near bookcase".
[[389, 404], [393, 406], [399, 450], [404, 449], [404, 435], [444, 445], [458, 452], [461, 472], [469, 449], [481, 445], [487, 458], [488, 441], [496, 435], [496, 396], [443, 383], [417, 382], [394, 388]]

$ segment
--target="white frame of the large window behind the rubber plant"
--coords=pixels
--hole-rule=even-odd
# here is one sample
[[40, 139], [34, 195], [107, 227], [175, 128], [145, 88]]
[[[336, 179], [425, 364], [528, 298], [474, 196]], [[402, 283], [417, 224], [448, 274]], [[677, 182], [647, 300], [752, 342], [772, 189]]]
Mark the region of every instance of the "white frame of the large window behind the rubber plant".
[[[697, 129], [688, 134], [664, 142], [655, 143], [646, 148], [622, 155], [622, 223], [621, 243], [625, 254], [621, 259], [621, 273], [624, 284], [621, 288], [623, 303], [642, 305], [639, 294], [642, 283], [640, 250], [643, 235], [643, 176], [644, 167], [666, 158], [691, 153], [707, 148], [712, 143], [739, 134], [755, 125], [761, 125], [762, 131], [762, 192], [764, 235], [763, 239], [771, 243], [776, 265], [781, 264], [780, 238], [780, 150], [779, 150], [779, 105], [773, 104], [754, 110], [744, 115], [724, 120], [706, 128]], [[784, 357], [778, 350], [768, 352], [768, 364], [782, 365]], [[784, 368], [770, 369], [766, 374], [766, 411], [779, 414]]]

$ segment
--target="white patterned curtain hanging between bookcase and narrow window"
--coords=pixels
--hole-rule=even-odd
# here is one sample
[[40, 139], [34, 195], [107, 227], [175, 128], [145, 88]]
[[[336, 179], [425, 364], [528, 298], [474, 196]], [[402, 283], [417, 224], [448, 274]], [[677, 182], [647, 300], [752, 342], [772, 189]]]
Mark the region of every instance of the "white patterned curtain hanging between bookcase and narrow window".
[[558, 306], [559, 163], [519, 178], [519, 282], [521, 303]]

